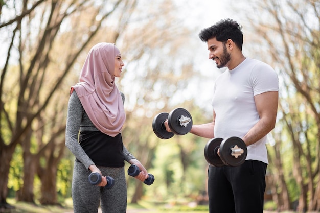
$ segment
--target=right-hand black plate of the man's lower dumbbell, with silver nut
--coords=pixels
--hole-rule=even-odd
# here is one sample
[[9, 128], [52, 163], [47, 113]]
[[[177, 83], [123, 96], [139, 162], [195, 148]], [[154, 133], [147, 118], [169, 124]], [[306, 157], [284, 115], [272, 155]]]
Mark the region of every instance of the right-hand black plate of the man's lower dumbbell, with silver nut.
[[[237, 158], [231, 154], [232, 148], [236, 145], [243, 150], [243, 153]], [[229, 137], [222, 140], [220, 145], [220, 158], [224, 164], [230, 165], [231, 167], [237, 167], [245, 161], [246, 156], [247, 147], [241, 138]]]

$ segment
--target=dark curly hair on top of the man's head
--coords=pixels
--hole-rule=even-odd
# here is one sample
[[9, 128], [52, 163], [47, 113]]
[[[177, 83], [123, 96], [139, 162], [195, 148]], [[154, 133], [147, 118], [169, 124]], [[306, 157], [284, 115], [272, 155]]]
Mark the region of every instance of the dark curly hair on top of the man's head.
[[228, 39], [231, 39], [240, 50], [242, 50], [243, 34], [242, 26], [232, 19], [223, 19], [215, 23], [214, 25], [204, 28], [199, 32], [199, 38], [201, 41], [207, 42], [211, 38], [216, 38], [217, 41], [226, 43]]

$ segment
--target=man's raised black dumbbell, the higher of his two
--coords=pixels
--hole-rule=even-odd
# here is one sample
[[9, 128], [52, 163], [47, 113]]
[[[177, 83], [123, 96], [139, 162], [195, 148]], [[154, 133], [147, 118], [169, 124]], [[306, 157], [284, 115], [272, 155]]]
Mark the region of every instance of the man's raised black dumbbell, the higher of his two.
[[[168, 125], [172, 132], [167, 132], [165, 121], [168, 119]], [[192, 128], [191, 114], [184, 108], [176, 108], [169, 114], [162, 112], [157, 114], [152, 121], [153, 132], [161, 139], [169, 139], [173, 135], [185, 135]]]

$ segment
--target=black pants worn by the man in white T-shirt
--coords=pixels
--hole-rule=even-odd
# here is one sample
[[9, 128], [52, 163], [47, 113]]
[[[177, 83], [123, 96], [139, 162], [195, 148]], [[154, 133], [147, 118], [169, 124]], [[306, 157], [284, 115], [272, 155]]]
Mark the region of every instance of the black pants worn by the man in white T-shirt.
[[209, 166], [210, 213], [262, 213], [266, 169], [256, 160], [239, 167]]

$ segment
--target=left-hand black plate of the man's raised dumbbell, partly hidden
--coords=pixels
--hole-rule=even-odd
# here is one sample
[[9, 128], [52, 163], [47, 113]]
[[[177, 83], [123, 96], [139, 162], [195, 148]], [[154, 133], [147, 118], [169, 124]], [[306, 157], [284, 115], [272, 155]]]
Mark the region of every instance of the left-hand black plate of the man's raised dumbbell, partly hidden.
[[155, 115], [152, 121], [152, 129], [156, 136], [161, 139], [169, 139], [173, 137], [174, 133], [167, 132], [164, 122], [168, 119], [168, 113], [162, 112]]

